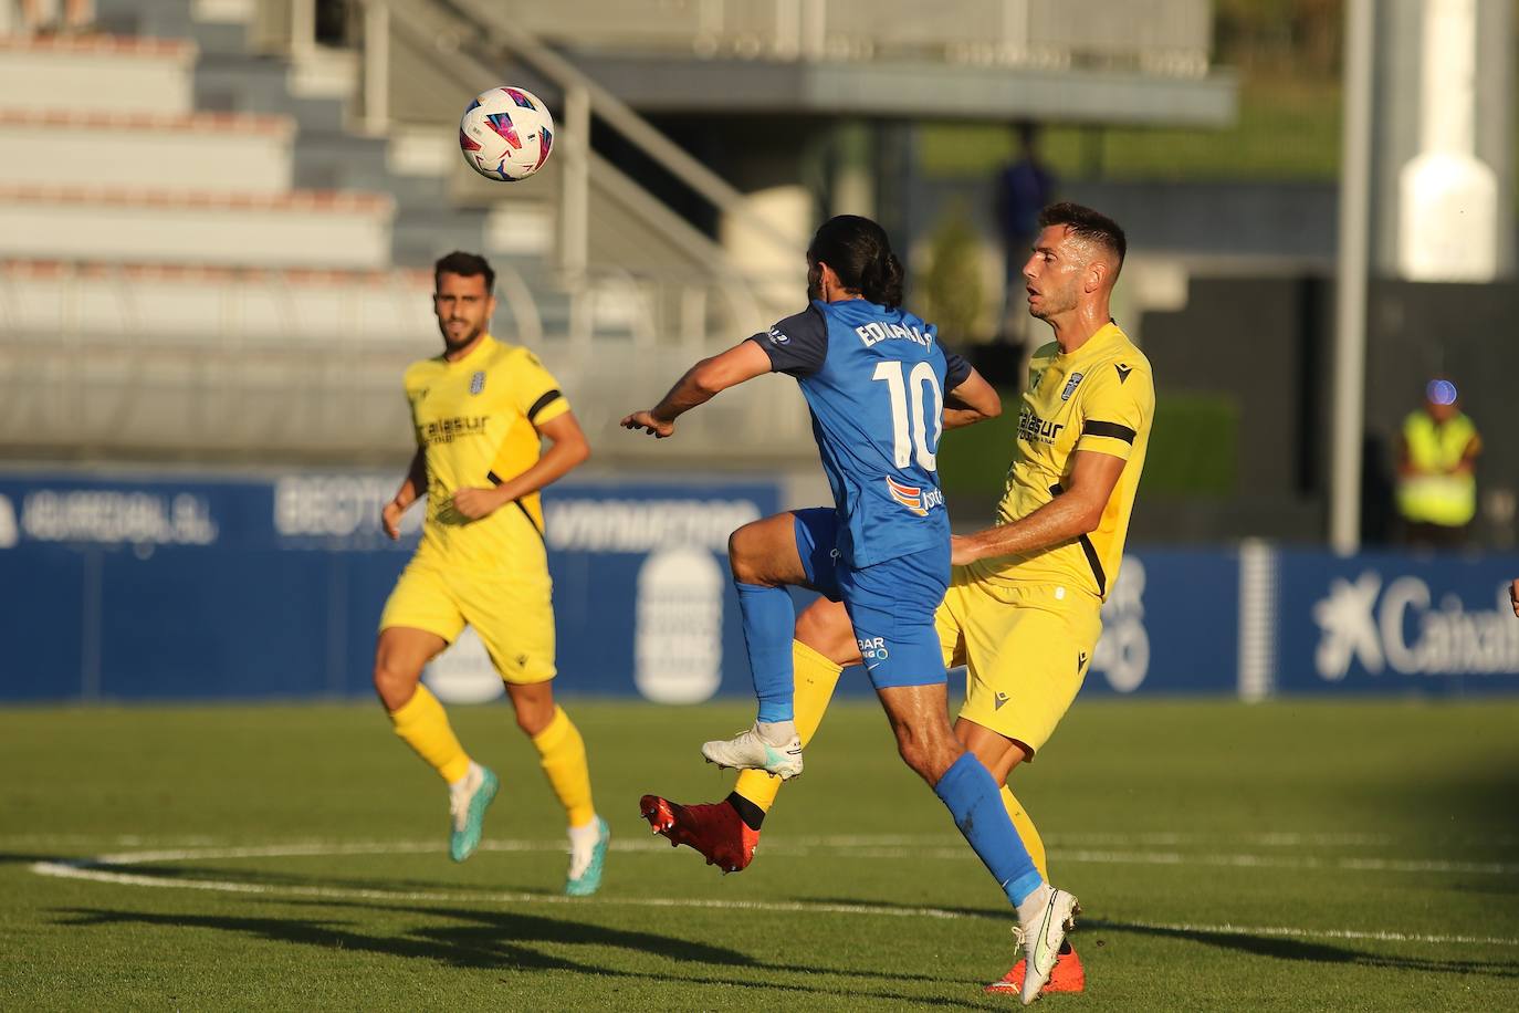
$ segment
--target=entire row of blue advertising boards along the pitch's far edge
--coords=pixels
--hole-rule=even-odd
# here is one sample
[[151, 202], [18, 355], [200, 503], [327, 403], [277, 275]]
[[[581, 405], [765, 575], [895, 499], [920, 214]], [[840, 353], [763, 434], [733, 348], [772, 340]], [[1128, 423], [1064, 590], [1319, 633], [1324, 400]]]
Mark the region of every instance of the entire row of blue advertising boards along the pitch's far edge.
[[[375, 623], [421, 524], [413, 509], [399, 542], [380, 533], [395, 484], [0, 475], [0, 700], [368, 696]], [[550, 489], [562, 691], [747, 696], [728, 535], [779, 506], [764, 481]], [[1519, 691], [1514, 574], [1516, 556], [1132, 551], [1083, 693]], [[451, 702], [503, 696], [471, 632], [425, 677]], [[854, 670], [838, 691], [870, 686]]]

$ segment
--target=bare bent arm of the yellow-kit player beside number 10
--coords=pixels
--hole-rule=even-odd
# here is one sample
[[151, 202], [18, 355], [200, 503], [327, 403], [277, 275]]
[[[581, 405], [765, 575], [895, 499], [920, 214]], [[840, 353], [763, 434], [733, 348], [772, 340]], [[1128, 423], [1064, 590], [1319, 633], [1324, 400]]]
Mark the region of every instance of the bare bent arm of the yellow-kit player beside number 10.
[[1071, 454], [1071, 462], [1066, 489], [1028, 516], [974, 535], [951, 536], [951, 562], [965, 565], [978, 559], [1031, 553], [1097, 530], [1118, 477], [1124, 472], [1124, 459], [1082, 450]]

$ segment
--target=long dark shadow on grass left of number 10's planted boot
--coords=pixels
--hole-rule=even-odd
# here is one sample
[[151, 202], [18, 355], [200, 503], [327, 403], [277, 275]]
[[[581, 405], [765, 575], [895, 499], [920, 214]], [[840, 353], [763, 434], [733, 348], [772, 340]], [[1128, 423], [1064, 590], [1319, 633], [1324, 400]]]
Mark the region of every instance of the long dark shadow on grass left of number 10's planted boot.
[[[316, 902], [311, 902], [313, 905]], [[322, 904], [322, 907], [334, 907]], [[838, 999], [910, 1001], [922, 1007], [981, 1008], [981, 1004], [943, 996], [904, 996], [892, 990], [861, 990], [794, 981], [756, 980], [755, 972], [791, 975], [837, 975], [875, 978], [883, 981], [945, 983], [931, 975], [898, 975], [860, 972], [854, 969], [804, 967], [755, 961], [723, 946], [659, 936], [646, 931], [608, 928], [579, 920], [557, 920], [518, 911], [477, 911], [465, 908], [390, 907], [345, 902], [339, 907], [355, 911], [386, 911], [415, 914], [427, 919], [454, 919], [463, 925], [419, 925], [399, 936], [368, 934], [339, 919], [254, 917], [225, 914], [164, 914], [155, 911], [108, 911], [100, 908], [68, 908], [59, 911], [59, 925], [100, 928], [118, 925], [152, 925], [170, 929], [213, 929], [235, 933], [278, 943], [314, 946], [327, 951], [355, 951], [448, 963], [477, 970], [568, 970], [600, 978], [652, 981], [670, 984], [702, 984], [741, 989], [773, 989], [797, 995], [834, 996]], [[602, 954], [588, 954], [585, 961], [544, 952], [538, 946], [598, 946], [626, 949], [639, 955], [653, 954], [687, 964], [705, 964], [743, 970], [741, 975], [720, 977], [676, 974], [668, 970], [626, 970], [609, 967]]]

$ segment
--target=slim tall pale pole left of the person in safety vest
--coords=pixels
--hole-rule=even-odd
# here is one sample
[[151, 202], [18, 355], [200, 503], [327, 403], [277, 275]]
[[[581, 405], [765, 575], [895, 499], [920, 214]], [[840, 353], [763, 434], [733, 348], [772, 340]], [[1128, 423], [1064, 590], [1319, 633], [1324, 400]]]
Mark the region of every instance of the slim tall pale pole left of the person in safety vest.
[[1361, 440], [1366, 430], [1366, 275], [1370, 246], [1373, 0], [1349, 0], [1344, 32], [1344, 138], [1335, 269], [1334, 433], [1329, 544], [1361, 547]]

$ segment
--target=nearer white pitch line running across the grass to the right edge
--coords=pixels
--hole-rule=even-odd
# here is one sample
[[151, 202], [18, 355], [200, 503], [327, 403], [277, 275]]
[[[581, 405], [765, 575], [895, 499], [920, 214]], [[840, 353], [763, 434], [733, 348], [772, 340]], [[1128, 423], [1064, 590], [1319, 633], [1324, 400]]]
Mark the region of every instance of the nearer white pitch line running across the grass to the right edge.
[[[415, 841], [403, 841], [406, 844], [413, 844]], [[368, 843], [372, 849], [375, 843]], [[349, 846], [352, 847], [352, 846]], [[207, 854], [211, 849], [197, 852], [199, 857], [211, 858]], [[251, 852], [257, 850], [263, 857], [272, 857], [270, 849], [220, 849], [216, 857], [232, 857], [226, 852]], [[409, 849], [410, 850], [410, 849]], [[137, 858], [138, 861], [167, 861], [161, 858], [170, 852], [144, 852], [140, 855], [128, 855], [125, 858]], [[311, 846], [302, 846], [298, 855], [314, 855]], [[354, 850], [330, 850], [321, 854], [380, 854], [380, 852], [354, 852]], [[96, 860], [96, 861], [103, 861]], [[264, 896], [292, 896], [292, 898], [319, 898], [327, 901], [407, 901], [407, 902], [451, 902], [451, 904], [594, 904], [594, 905], [620, 905], [620, 907], [646, 907], [646, 908], [700, 908], [700, 910], [744, 910], [744, 911], [770, 911], [781, 914], [860, 914], [860, 916], [883, 916], [883, 917], [933, 917], [943, 920], [954, 920], [963, 917], [986, 917], [980, 914], [966, 914], [962, 911], [946, 911], [943, 908], [901, 908], [887, 907], [878, 904], [817, 904], [807, 901], [737, 901], [737, 899], [697, 899], [697, 898], [617, 898], [617, 896], [598, 896], [594, 901], [586, 898], [567, 898], [548, 893], [512, 893], [512, 892], [489, 892], [489, 890], [366, 890], [357, 887], [302, 887], [302, 885], [276, 885], [276, 884], [260, 884], [260, 882], [235, 882], [228, 879], [184, 879], [184, 878], [163, 878], [143, 873], [128, 873], [128, 872], [108, 872], [103, 869], [91, 869], [87, 861], [38, 861], [32, 864], [32, 872], [39, 876], [53, 876], [59, 879], [85, 879], [91, 882], [109, 882], [115, 885], [131, 885], [131, 887], [152, 887], [163, 890], [204, 890], [216, 893], [243, 893], [243, 895], [264, 895]], [[995, 917], [995, 916], [993, 916]], [[1519, 946], [1519, 939], [1508, 939], [1501, 936], [1428, 936], [1417, 933], [1394, 933], [1387, 929], [1379, 931], [1358, 931], [1358, 929], [1312, 929], [1312, 928], [1296, 928], [1296, 926], [1252, 926], [1252, 925], [1194, 925], [1180, 923], [1171, 925], [1165, 922], [1130, 922], [1124, 925], [1109, 923], [1104, 926], [1107, 931], [1126, 931], [1126, 929], [1150, 929], [1162, 933], [1208, 933], [1208, 934], [1235, 934], [1235, 936], [1276, 936], [1290, 939], [1344, 939], [1344, 940], [1375, 940], [1388, 943], [1429, 943], [1429, 945], [1483, 945], [1483, 946]]]

